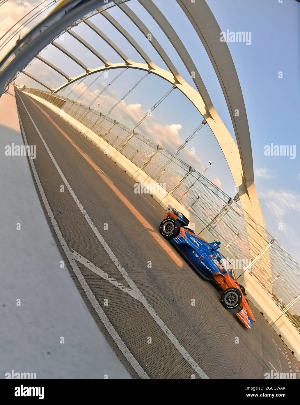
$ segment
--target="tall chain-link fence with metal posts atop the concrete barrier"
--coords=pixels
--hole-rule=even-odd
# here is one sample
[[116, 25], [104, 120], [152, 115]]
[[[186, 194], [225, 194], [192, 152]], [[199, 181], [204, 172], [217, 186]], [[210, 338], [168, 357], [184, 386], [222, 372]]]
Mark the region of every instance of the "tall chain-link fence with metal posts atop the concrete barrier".
[[300, 266], [241, 206], [200, 172], [146, 136], [78, 102], [26, 89], [90, 128], [165, 186], [248, 271], [300, 333]]

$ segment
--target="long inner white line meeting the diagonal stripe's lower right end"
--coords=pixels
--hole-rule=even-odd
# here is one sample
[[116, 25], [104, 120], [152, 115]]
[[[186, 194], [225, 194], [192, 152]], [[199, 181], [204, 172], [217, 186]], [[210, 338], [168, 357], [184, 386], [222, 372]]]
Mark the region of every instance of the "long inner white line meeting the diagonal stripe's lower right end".
[[[21, 97], [20, 97], [21, 99]], [[23, 100], [21, 99], [22, 103]], [[24, 108], [25, 104], [23, 103]], [[27, 111], [27, 109], [26, 109]], [[34, 123], [34, 120], [32, 119], [31, 115], [29, 114], [29, 112], [27, 111], [28, 116], [30, 117], [32, 124], [34, 125], [34, 128], [36, 128], [36, 131], [38, 132], [40, 139], [42, 140], [44, 147], [46, 148], [46, 151], [48, 152], [54, 166], [56, 167], [59, 175], [61, 176], [61, 179], [63, 180], [63, 182], [65, 183], [66, 188], [68, 188], [71, 196], [73, 197], [77, 207], [80, 209], [80, 211], [82, 212], [82, 215], [85, 217], [85, 220], [87, 221], [87, 223], [89, 224], [89, 226], [91, 227], [91, 229], [93, 230], [95, 236], [97, 237], [98, 241], [101, 243], [101, 245], [104, 247], [104, 249], [106, 250], [106, 253], [108, 254], [108, 256], [111, 258], [112, 262], [114, 263], [114, 265], [116, 266], [116, 268], [120, 271], [120, 273], [123, 275], [123, 277], [125, 278], [125, 280], [127, 281], [127, 283], [129, 284], [129, 286], [132, 288], [132, 290], [135, 292], [135, 294], [137, 294], [137, 296], [139, 297], [140, 302], [144, 305], [144, 307], [147, 309], [147, 311], [150, 313], [150, 315], [152, 316], [152, 318], [155, 320], [155, 322], [158, 324], [158, 326], [161, 328], [161, 330], [163, 331], [163, 333], [165, 333], [165, 335], [168, 337], [168, 339], [173, 343], [173, 345], [176, 347], [176, 349], [178, 350], [178, 352], [180, 352], [180, 354], [184, 357], [184, 359], [191, 365], [191, 367], [196, 371], [196, 373], [201, 377], [201, 378], [209, 378], [205, 372], [201, 369], [201, 367], [199, 366], [199, 364], [196, 363], [196, 361], [192, 358], [192, 356], [190, 356], [190, 354], [188, 354], [188, 352], [185, 350], [185, 348], [182, 346], [182, 344], [176, 339], [176, 337], [173, 335], [173, 333], [171, 332], [171, 330], [167, 327], [167, 325], [163, 322], [163, 320], [158, 316], [158, 314], [155, 312], [155, 310], [151, 307], [150, 303], [148, 303], [148, 301], [146, 300], [146, 298], [143, 296], [142, 292], [140, 292], [140, 290], [137, 288], [136, 284], [134, 283], [134, 281], [131, 279], [131, 277], [129, 276], [129, 274], [127, 273], [127, 271], [123, 268], [122, 264], [118, 261], [118, 259], [116, 258], [116, 256], [114, 255], [114, 252], [112, 252], [112, 249], [110, 249], [110, 247], [108, 246], [108, 244], [106, 243], [106, 241], [104, 240], [104, 237], [100, 234], [99, 230], [96, 228], [95, 224], [93, 223], [93, 221], [91, 220], [91, 218], [89, 217], [87, 211], [85, 211], [84, 207], [82, 206], [82, 204], [80, 203], [80, 201], [78, 200], [76, 194], [74, 193], [72, 187], [70, 186], [70, 184], [68, 183], [68, 180], [65, 178], [65, 176], [63, 175], [63, 172], [61, 171], [60, 167], [58, 166], [55, 158], [53, 157], [48, 145], [46, 144], [44, 138], [42, 137], [42, 134], [40, 133], [40, 131], [38, 130], [36, 124]]]

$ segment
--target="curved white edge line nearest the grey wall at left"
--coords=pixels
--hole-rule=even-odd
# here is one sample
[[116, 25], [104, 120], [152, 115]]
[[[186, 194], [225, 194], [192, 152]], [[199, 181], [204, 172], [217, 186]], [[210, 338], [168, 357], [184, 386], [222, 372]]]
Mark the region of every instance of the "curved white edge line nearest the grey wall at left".
[[[20, 97], [20, 96], [19, 96]], [[21, 98], [21, 97], [20, 97]], [[21, 101], [23, 102], [23, 100], [21, 99]], [[23, 103], [24, 107], [25, 104]], [[25, 107], [26, 109], [26, 107]], [[28, 113], [27, 109], [26, 109], [27, 114], [30, 117], [30, 114]], [[19, 115], [19, 111], [18, 111], [18, 115]], [[30, 117], [31, 121], [32, 118]], [[25, 145], [27, 146], [27, 138], [25, 135], [25, 131], [21, 122], [21, 117], [19, 115], [19, 121], [20, 121], [20, 126], [21, 126], [21, 131], [23, 133], [23, 137], [24, 137], [24, 141], [25, 141]], [[32, 123], [34, 124], [34, 122], [32, 121]], [[35, 124], [34, 127], [36, 128]], [[38, 134], [40, 135], [40, 132], [38, 131], [38, 129], [36, 128]], [[41, 135], [40, 135], [41, 136]], [[43, 140], [43, 139], [42, 139]], [[65, 252], [65, 255], [67, 256], [71, 267], [78, 279], [78, 281], [80, 282], [80, 286], [82, 287], [82, 289], [84, 290], [85, 294], [87, 295], [87, 298], [89, 299], [90, 303], [93, 305], [93, 308], [95, 309], [95, 311], [97, 312], [97, 315], [99, 316], [99, 318], [101, 319], [101, 321], [103, 322], [106, 330], [108, 331], [108, 333], [110, 334], [110, 336], [112, 337], [112, 339], [114, 339], [116, 345], [118, 346], [118, 348], [120, 349], [120, 351], [123, 353], [123, 355], [125, 356], [125, 358], [127, 358], [127, 360], [129, 361], [129, 363], [131, 364], [131, 366], [133, 367], [133, 369], [135, 369], [135, 371], [137, 372], [137, 374], [139, 375], [139, 377], [141, 378], [150, 378], [148, 376], [148, 374], [146, 373], [146, 371], [144, 371], [144, 369], [142, 368], [142, 366], [139, 364], [139, 362], [137, 362], [137, 360], [133, 357], [133, 355], [131, 354], [131, 352], [129, 351], [128, 347], [125, 345], [125, 343], [123, 342], [123, 340], [120, 338], [120, 336], [118, 335], [118, 332], [114, 329], [114, 326], [111, 324], [110, 320], [108, 319], [108, 317], [106, 316], [106, 314], [104, 313], [103, 309], [101, 308], [101, 306], [99, 305], [96, 297], [94, 296], [91, 288], [89, 287], [88, 283], [85, 281], [85, 278], [83, 277], [82, 273], [79, 270], [79, 267], [77, 266], [76, 261], [73, 258], [72, 253], [70, 252], [70, 249], [68, 248], [67, 243], [65, 242], [65, 239], [63, 238], [63, 235], [59, 229], [59, 226], [55, 220], [55, 217], [53, 215], [53, 212], [50, 208], [50, 205], [48, 203], [48, 200], [46, 198], [46, 195], [44, 193], [44, 190], [42, 188], [42, 184], [40, 182], [40, 179], [38, 177], [38, 173], [36, 172], [36, 168], [34, 166], [34, 162], [32, 159], [29, 159], [31, 168], [32, 168], [32, 172], [34, 174], [34, 178], [36, 180], [36, 184], [38, 186], [38, 190], [40, 192], [40, 195], [42, 197], [44, 206], [46, 208], [46, 211], [49, 215], [51, 224], [53, 225], [53, 228], [55, 230], [55, 233], [57, 234], [57, 237], [59, 239], [59, 242], [61, 244], [61, 247], [63, 248], [63, 251]]]

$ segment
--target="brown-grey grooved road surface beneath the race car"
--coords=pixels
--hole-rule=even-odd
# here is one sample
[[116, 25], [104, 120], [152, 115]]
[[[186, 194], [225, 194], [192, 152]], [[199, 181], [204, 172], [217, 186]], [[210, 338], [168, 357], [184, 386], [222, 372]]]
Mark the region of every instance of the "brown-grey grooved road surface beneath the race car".
[[21, 92], [16, 101], [65, 258], [53, 271], [70, 271], [132, 377], [299, 378], [299, 362], [258, 310], [250, 303], [256, 323], [247, 330], [161, 237], [165, 210], [149, 194], [136, 194], [121, 168], [43, 104]]

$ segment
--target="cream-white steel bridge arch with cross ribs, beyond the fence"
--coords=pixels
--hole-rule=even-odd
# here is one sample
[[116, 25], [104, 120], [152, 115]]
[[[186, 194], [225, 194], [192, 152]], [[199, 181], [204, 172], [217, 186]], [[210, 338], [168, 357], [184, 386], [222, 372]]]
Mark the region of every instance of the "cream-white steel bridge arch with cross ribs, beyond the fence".
[[[196, 91], [192, 86], [184, 81], [165, 50], [161, 47], [161, 45], [158, 43], [153, 35], [150, 43], [157, 51], [157, 53], [161, 56], [162, 60], [165, 62], [170, 71], [156, 66], [156, 64], [154, 64], [150, 60], [148, 55], [146, 55], [143, 49], [139, 47], [132, 36], [130, 36], [129, 33], [120, 25], [120, 23], [118, 23], [118, 21], [116, 21], [107, 11], [103, 11], [101, 12], [101, 14], [103, 14], [103, 16], [124, 36], [124, 38], [126, 38], [126, 40], [136, 49], [136, 51], [139, 53], [139, 55], [142, 56], [146, 63], [136, 63], [131, 61], [123, 53], [123, 51], [119, 49], [110, 38], [108, 38], [108, 36], [106, 36], [101, 30], [99, 30], [99, 28], [97, 28], [97, 26], [95, 26], [95, 24], [91, 23], [91, 21], [89, 21], [88, 19], [85, 19], [83, 22], [94, 32], [96, 32], [101, 38], [103, 38], [106, 43], [108, 43], [108, 45], [110, 45], [110, 47], [114, 49], [116, 53], [118, 53], [118, 55], [120, 56], [120, 58], [123, 59], [124, 62], [116, 64], [108, 62], [102, 55], [100, 55], [99, 52], [93, 49], [85, 40], [80, 38], [78, 34], [68, 29], [66, 31], [69, 32], [82, 45], [87, 47], [89, 51], [96, 55], [99, 60], [104, 63], [104, 65], [95, 69], [88, 68], [69, 51], [53, 41], [52, 44], [69, 58], [71, 58], [74, 62], [76, 62], [79, 66], [81, 66], [85, 70], [85, 73], [71, 78], [64, 72], [59, 71], [59, 69], [55, 68], [53, 64], [41, 57], [38, 58], [40, 61], [46, 63], [50, 68], [56, 70], [63, 77], [65, 77], [67, 81], [56, 89], [49, 89], [49, 86], [34, 78], [32, 75], [28, 74], [28, 72], [24, 73], [54, 93], [59, 92], [67, 85], [74, 83], [75, 81], [78, 81], [85, 76], [91, 75], [96, 72], [101, 72], [102, 70], [109, 70], [114, 68], [128, 67], [150, 71], [155, 75], [158, 75], [159, 77], [169, 81], [172, 85], [175, 85], [175, 87], [177, 87], [194, 104], [203, 118], [207, 121], [207, 124], [211, 128], [224, 153], [224, 156], [232, 173], [232, 177], [235, 181], [236, 186], [238, 187], [238, 194], [243, 209], [245, 209], [245, 211], [247, 211], [252, 217], [254, 217], [254, 219], [260, 225], [264, 226], [262, 212], [254, 185], [251, 141], [243, 95], [228, 46], [226, 43], [220, 42], [221, 30], [218, 26], [217, 21], [215, 20], [205, 0], [197, 0], [195, 3], [191, 3], [190, 0], [176, 0], [192, 23], [192, 26], [194, 27], [196, 33], [199, 35], [199, 38], [201, 39], [205, 50], [207, 51], [209, 58], [213, 64], [228, 105], [228, 110], [232, 119], [238, 146], [235, 144], [235, 140], [232, 138], [231, 134], [220, 119], [218, 113], [215, 111], [207, 89], [201, 79], [201, 75], [196, 69], [192, 58], [188, 54], [180, 38], [177, 36], [175, 30], [171, 27], [165, 16], [161, 13], [161, 11], [159, 11], [159, 9], [151, 0], [138, 1], [142, 4], [142, 6], [144, 6], [146, 11], [148, 11], [152, 18], [161, 27], [165, 35], [169, 38], [169, 41], [184, 62], [188, 71], [195, 72], [194, 83], [198, 91]], [[117, 1], [115, 2], [117, 4]], [[129, 17], [129, 19], [131, 19], [131, 21], [133, 21], [133, 23], [135, 23], [137, 28], [139, 28], [139, 30], [146, 37], [148, 36], [148, 34], [151, 33], [151, 31], [135, 15], [135, 13], [133, 13], [133, 11], [129, 8], [129, 6], [127, 6], [127, 4], [118, 4], [118, 7], [127, 15], [127, 17]], [[230, 70], [230, 72], [228, 72], [228, 70]], [[239, 109], [239, 117], [235, 117], [235, 109]]]

